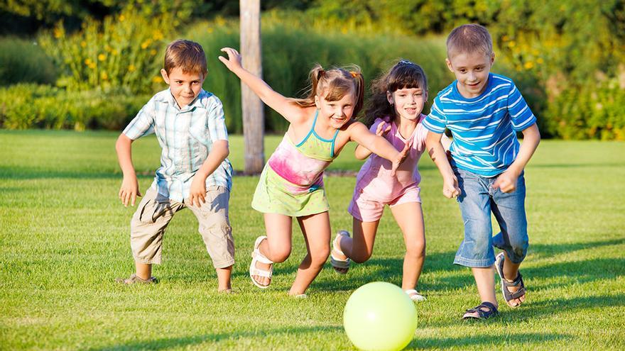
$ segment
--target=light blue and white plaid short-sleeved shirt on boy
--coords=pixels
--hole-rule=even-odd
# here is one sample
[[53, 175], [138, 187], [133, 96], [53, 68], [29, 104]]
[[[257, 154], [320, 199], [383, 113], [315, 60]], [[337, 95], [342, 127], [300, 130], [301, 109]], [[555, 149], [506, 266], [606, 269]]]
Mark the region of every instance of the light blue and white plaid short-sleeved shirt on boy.
[[[161, 199], [188, 199], [192, 177], [205, 162], [216, 140], [228, 140], [222, 101], [207, 91], [179, 108], [170, 89], [158, 92], [124, 129], [131, 140], [156, 134], [161, 167], [152, 187]], [[232, 188], [232, 165], [224, 160], [206, 179], [206, 186]]]

